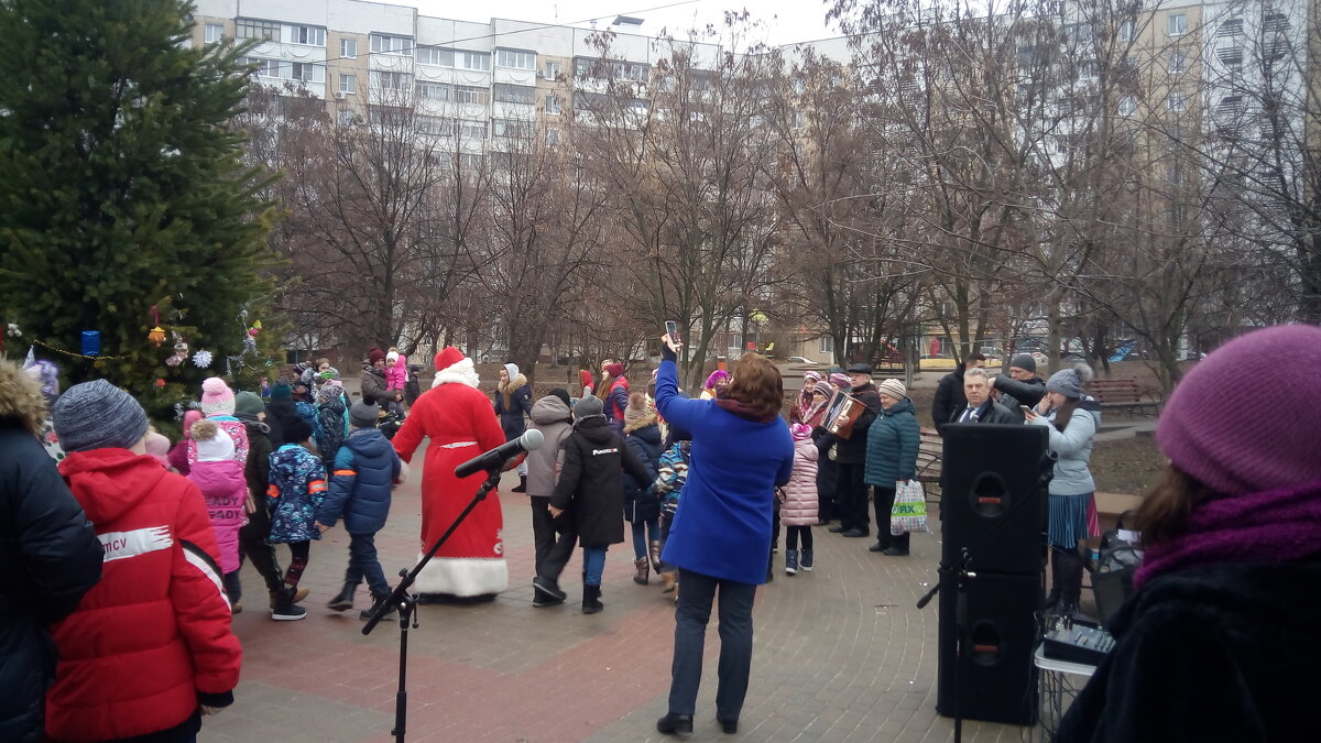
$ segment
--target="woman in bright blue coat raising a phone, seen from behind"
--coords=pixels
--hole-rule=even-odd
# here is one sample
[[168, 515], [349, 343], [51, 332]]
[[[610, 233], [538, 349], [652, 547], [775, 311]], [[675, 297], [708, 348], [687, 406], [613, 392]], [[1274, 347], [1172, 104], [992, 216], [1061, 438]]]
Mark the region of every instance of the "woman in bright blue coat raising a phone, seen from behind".
[[789, 481], [794, 442], [779, 416], [783, 382], [764, 356], [734, 364], [720, 399], [679, 395], [678, 345], [663, 336], [657, 407], [672, 426], [692, 432], [683, 501], [670, 525], [662, 562], [679, 568], [670, 713], [657, 721], [667, 735], [692, 732], [701, 681], [707, 621], [720, 592], [720, 689], [716, 719], [737, 732], [752, 669], [752, 604], [766, 580], [775, 487]]

